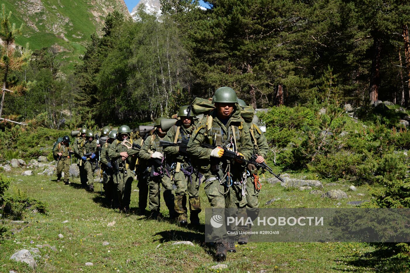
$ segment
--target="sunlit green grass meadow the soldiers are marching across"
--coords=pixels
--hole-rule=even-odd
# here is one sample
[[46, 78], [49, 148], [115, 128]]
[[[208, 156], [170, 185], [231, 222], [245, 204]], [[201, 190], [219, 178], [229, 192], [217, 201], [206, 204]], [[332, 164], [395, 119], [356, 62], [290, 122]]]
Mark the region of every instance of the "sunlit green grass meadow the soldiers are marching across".
[[[149, 220], [145, 216], [129, 216], [103, 205], [98, 192], [87, 193], [78, 188], [79, 180], [71, 186], [57, 184], [55, 177], [34, 175], [19, 176], [9, 189], [26, 191], [49, 204], [50, 213], [43, 215], [27, 212], [18, 226], [3, 221], [9, 232], [0, 241], [0, 271], [32, 272], [22, 263], [12, 262], [9, 257], [19, 249], [35, 247], [36, 244], [55, 246], [57, 252], [42, 248], [36, 272], [217, 272], [210, 266], [213, 249], [203, 243], [203, 230], [178, 227], [166, 219]], [[23, 181], [18, 181], [23, 180]], [[96, 190], [100, 188], [96, 184]], [[326, 187], [336, 189], [340, 186]], [[132, 190], [137, 189], [137, 182]], [[344, 189], [344, 188], [342, 188]], [[368, 200], [367, 189], [359, 187], [349, 200], [333, 201], [313, 196], [308, 192], [285, 190], [279, 184], [264, 183], [260, 194], [261, 207], [272, 198], [280, 198], [269, 207], [349, 207], [351, 200]], [[358, 197], [357, 193], [366, 196]], [[209, 207], [201, 187], [202, 207]], [[287, 201], [287, 199], [290, 199]], [[138, 192], [132, 191], [131, 208], [138, 202]], [[162, 213], [168, 215], [162, 202]], [[204, 212], [200, 214], [204, 221]], [[68, 220], [68, 223], [62, 222]], [[113, 227], [107, 224], [115, 221]], [[13, 230], [14, 234], [11, 234]], [[60, 239], [58, 234], [64, 235]], [[173, 246], [174, 241], [189, 240], [192, 246]], [[32, 241], [32, 243], [30, 243]], [[103, 246], [103, 242], [109, 242]], [[21, 242], [21, 244], [16, 244]], [[389, 252], [390, 251], [390, 252]], [[48, 256], [46, 256], [48, 255]], [[368, 243], [248, 243], [238, 246], [237, 253], [228, 254], [227, 269], [221, 272], [406, 272], [410, 268], [408, 259], [393, 257], [391, 250], [383, 250], [380, 244]], [[47, 257], [47, 258], [46, 258]], [[85, 266], [92, 262], [93, 266]]]

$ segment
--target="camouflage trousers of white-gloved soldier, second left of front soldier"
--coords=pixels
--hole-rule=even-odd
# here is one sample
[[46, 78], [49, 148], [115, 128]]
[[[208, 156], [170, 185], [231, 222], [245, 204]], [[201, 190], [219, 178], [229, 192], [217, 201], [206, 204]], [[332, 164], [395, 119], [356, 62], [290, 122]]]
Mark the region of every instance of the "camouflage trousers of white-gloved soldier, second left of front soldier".
[[164, 196], [164, 201], [166, 207], [169, 209], [169, 216], [172, 218], [175, 216], [174, 210], [174, 194], [172, 193], [172, 182], [171, 178], [164, 175], [161, 176], [153, 176], [148, 177], [148, 189], [149, 189], [149, 209], [153, 211], [158, 211], [160, 208], [160, 201], [159, 201], [159, 184], [162, 184], [162, 191]]

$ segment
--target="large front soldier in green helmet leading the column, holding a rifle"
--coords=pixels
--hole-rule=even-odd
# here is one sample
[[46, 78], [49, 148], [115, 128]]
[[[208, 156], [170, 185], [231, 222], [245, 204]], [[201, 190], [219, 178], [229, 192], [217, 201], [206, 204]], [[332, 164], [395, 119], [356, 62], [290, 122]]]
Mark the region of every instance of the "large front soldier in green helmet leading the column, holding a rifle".
[[[246, 164], [239, 159], [230, 161], [222, 157], [225, 149], [236, 152], [244, 159], [251, 157], [253, 148], [249, 128], [243, 126], [244, 120], [240, 116], [238, 99], [233, 89], [227, 86], [217, 89], [212, 102], [216, 109], [210, 111], [210, 114], [198, 123], [189, 139], [187, 150], [191, 160], [195, 160], [205, 174], [205, 193], [211, 207], [223, 209], [229, 206], [225, 200], [233, 200], [236, 197], [238, 200], [232, 204], [243, 207], [246, 204], [246, 181], [242, 177]], [[205, 148], [203, 143], [216, 148]], [[242, 194], [238, 197], [237, 193]], [[224, 260], [227, 250], [236, 252], [233, 238], [222, 238], [217, 234], [212, 234], [212, 237], [216, 242], [216, 260]]]

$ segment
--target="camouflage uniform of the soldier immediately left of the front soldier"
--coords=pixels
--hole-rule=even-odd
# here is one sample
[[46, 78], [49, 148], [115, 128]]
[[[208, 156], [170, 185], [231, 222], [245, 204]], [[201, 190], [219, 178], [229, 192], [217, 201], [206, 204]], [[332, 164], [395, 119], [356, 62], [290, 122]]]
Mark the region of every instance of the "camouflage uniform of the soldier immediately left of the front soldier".
[[[188, 140], [194, 131], [194, 121], [188, 128], [182, 125], [182, 121], [169, 129], [164, 137], [165, 141], [177, 142], [182, 139]], [[176, 133], [178, 138], [175, 141]], [[194, 217], [198, 217], [201, 212], [199, 194], [200, 177], [197, 176], [198, 171], [191, 166], [188, 154], [184, 155], [179, 151], [179, 146], [169, 146], [164, 148], [164, 152], [170, 156], [172, 164], [175, 164], [174, 182], [177, 187], [175, 190], [175, 212], [179, 214], [180, 219], [187, 219], [187, 195], [189, 196], [189, 211], [191, 212], [191, 221]], [[202, 175], [201, 175], [202, 176]], [[196, 216], [194, 215], [196, 214]]]

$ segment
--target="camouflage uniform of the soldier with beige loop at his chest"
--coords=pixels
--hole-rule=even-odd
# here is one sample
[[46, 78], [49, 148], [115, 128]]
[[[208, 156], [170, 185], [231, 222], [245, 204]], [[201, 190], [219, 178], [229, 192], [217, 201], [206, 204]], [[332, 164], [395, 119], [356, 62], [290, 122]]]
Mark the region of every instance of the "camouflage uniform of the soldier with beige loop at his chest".
[[[132, 143], [132, 140], [128, 140]], [[134, 180], [134, 168], [139, 149], [127, 148], [116, 139], [109, 147], [108, 156], [113, 167], [114, 184], [117, 187], [118, 201], [122, 209], [129, 209], [131, 201], [131, 184]], [[129, 145], [129, 144], [128, 144]], [[121, 152], [127, 152], [128, 157], [121, 159]], [[117, 170], [118, 167], [118, 170]]]

